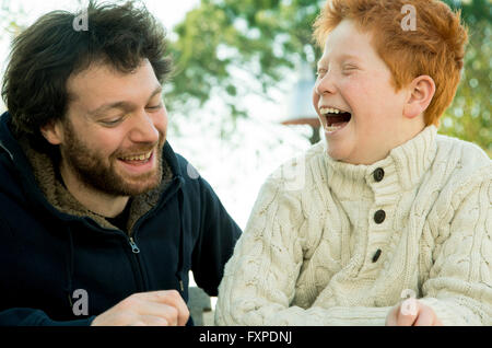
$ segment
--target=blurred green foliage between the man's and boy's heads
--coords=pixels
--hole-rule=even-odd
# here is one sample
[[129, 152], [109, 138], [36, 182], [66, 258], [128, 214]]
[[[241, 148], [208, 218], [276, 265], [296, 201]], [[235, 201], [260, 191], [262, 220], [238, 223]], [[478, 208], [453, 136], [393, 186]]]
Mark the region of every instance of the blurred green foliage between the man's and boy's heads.
[[[315, 61], [311, 27], [321, 3], [202, 0], [174, 28], [178, 39], [169, 43], [177, 68], [166, 93], [169, 108], [200, 107], [216, 93], [231, 106], [233, 118], [247, 116], [238, 98], [266, 95], [296, 61]], [[237, 76], [244, 74], [260, 89], [238, 83]]]

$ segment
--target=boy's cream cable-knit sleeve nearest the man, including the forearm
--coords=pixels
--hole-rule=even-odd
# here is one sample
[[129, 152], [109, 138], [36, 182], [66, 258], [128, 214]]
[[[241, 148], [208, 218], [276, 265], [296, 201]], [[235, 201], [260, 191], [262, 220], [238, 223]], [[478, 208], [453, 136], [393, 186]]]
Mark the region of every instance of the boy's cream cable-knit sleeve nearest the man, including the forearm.
[[307, 240], [295, 190], [270, 177], [225, 266], [218, 325], [384, 325], [389, 308], [291, 306]]

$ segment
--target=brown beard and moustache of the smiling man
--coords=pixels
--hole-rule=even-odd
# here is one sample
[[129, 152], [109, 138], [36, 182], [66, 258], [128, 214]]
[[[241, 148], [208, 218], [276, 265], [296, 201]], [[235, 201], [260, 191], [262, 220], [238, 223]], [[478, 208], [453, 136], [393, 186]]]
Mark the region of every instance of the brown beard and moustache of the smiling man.
[[[148, 144], [114, 152], [109, 158], [104, 158], [96, 149], [90, 149], [75, 135], [71, 123], [65, 123], [66, 143], [60, 151], [62, 161], [77, 175], [79, 181], [87, 187], [95, 188], [106, 195], [113, 196], [137, 196], [157, 187], [162, 181], [162, 149], [164, 136], [160, 132], [159, 144]], [[138, 175], [131, 179], [119, 174], [115, 164], [118, 158], [132, 153], [144, 153], [155, 149], [152, 155], [156, 156], [156, 169]], [[109, 162], [109, 165], [107, 164]]]

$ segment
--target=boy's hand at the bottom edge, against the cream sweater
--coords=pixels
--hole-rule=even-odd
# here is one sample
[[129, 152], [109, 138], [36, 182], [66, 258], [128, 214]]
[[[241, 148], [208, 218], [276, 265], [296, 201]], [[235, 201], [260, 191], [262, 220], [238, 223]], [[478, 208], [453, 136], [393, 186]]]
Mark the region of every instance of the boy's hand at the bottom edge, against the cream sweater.
[[443, 326], [434, 311], [415, 299], [394, 306], [386, 317], [387, 326]]

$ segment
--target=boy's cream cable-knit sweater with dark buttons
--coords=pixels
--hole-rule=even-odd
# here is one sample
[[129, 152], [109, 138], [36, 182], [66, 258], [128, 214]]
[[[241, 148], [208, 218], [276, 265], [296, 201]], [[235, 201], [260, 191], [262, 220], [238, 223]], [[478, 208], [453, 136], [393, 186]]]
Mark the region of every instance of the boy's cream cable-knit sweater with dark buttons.
[[261, 187], [215, 323], [384, 325], [414, 291], [444, 325], [492, 325], [491, 182], [480, 148], [434, 126], [372, 165], [315, 144]]

